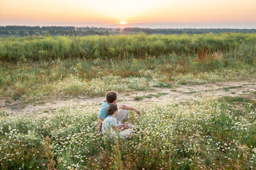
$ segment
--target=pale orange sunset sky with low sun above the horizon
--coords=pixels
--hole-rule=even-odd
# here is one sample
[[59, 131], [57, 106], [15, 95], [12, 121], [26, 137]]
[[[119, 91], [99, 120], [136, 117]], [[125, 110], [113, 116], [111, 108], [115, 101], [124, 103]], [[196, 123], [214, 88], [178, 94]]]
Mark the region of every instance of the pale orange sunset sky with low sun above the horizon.
[[0, 0], [0, 25], [256, 28], [256, 0]]

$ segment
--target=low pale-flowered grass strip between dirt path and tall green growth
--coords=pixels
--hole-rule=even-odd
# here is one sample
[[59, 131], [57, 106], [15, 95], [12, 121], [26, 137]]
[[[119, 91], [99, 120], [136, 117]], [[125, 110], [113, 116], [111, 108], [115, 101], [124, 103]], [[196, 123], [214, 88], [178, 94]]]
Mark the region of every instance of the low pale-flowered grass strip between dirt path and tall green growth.
[[[108, 90], [144, 91], [172, 84], [206, 84], [255, 77], [248, 65], [211, 69], [174, 64], [175, 55], [127, 60], [56, 60], [52, 62], [2, 62], [0, 96], [23, 102], [65, 96], [103, 96]], [[202, 68], [202, 69], [201, 69]], [[201, 70], [205, 70], [202, 72]], [[161, 76], [159, 76], [161, 75]], [[228, 87], [227, 87], [228, 88]], [[228, 89], [227, 89], [228, 90]]]

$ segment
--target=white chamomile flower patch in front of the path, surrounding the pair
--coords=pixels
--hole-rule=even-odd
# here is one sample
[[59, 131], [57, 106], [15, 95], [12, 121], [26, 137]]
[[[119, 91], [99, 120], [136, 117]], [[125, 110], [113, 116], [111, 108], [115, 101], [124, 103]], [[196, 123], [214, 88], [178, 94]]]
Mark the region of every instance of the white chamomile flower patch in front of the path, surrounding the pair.
[[[65, 106], [43, 118], [4, 114], [1, 169], [46, 169], [50, 159], [58, 169], [251, 169], [256, 166], [255, 103], [232, 100], [246, 108], [240, 115], [226, 99], [140, 105], [142, 115], [130, 116], [137, 135], [129, 140], [95, 135], [100, 108], [95, 104]], [[53, 159], [46, 152], [53, 152]]]

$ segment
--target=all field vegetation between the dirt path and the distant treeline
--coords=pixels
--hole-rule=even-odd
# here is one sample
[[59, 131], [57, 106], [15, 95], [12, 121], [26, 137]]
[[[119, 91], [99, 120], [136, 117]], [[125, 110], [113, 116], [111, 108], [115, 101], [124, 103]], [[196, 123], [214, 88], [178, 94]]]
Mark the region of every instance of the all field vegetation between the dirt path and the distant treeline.
[[[0, 96], [28, 103], [255, 77], [256, 34], [0, 39]], [[161, 75], [161, 76], [159, 76]]]

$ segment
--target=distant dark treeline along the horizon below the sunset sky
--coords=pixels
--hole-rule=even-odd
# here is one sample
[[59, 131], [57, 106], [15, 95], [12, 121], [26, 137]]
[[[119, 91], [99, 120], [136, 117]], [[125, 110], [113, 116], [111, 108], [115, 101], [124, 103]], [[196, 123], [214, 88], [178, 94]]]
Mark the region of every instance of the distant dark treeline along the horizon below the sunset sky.
[[203, 33], [256, 33], [256, 29], [196, 29], [196, 28], [97, 28], [97, 27], [74, 27], [74, 26], [0, 26], [0, 37], [24, 37], [24, 36], [47, 36], [47, 35], [117, 35], [117, 34], [203, 34]]

